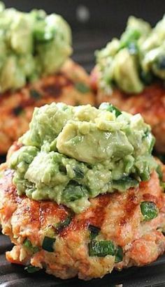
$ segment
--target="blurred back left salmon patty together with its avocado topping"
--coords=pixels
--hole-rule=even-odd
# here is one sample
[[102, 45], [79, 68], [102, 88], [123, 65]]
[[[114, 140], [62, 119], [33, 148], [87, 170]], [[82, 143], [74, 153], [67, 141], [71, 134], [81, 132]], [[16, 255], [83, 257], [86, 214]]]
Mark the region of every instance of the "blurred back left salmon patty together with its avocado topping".
[[0, 154], [29, 126], [35, 106], [94, 103], [85, 70], [69, 59], [71, 29], [59, 15], [0, 4]]

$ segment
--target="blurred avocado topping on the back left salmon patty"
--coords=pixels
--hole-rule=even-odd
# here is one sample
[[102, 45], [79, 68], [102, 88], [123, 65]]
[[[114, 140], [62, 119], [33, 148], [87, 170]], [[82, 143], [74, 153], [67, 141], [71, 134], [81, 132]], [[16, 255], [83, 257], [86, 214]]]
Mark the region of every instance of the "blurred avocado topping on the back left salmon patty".
[[0, 3], [0, 92], [57, 72], [71, 51], [71, 29], [61, 16]]

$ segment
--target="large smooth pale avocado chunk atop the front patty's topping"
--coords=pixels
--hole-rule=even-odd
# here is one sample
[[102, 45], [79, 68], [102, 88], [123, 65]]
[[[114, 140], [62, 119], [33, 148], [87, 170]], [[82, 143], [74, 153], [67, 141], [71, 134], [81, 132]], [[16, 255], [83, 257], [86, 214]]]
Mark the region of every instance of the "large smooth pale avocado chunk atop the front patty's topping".
[[[83, 130], [83, 125], [87, 131]], [[84, 122], [69, 122], [57, 137], [60, 153], [86, 163], [96, 163], [127, 156], [134, 151], [122, 131], [100, 131], [96, 125]]]

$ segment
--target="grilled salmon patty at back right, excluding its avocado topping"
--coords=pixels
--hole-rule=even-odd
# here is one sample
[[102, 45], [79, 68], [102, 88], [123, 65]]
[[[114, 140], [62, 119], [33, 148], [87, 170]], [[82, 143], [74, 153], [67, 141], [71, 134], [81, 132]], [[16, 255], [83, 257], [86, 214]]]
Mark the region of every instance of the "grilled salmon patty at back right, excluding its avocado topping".
[[98, 86], [98, 72], [96, 68], [91, 75], [92, 89], [96, 92], [96, 104], [109, 102], [120, 110], [133, 115], [141, 113], [146, 123], [152, 127], [156, 138], [155, 149], [165, 153], [165, 89], [162, 82], [151, 84], [140, 94], [125, 94], [115, 89], [113, 94], [105, 94]]

